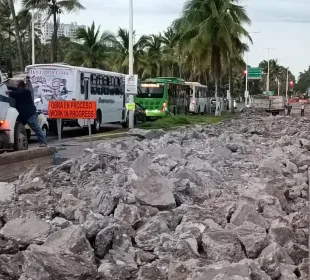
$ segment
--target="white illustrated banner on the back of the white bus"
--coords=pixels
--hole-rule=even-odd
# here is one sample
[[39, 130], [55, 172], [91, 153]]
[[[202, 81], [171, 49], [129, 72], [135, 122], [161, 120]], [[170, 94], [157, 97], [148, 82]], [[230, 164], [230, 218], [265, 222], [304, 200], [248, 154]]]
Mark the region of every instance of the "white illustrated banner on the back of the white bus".
[[74, 98], [74, 72], [71, 69], [30, 68], [34, 99], [41, 98], [38, 109], [48, 114], [50, 100], [72, 100]]

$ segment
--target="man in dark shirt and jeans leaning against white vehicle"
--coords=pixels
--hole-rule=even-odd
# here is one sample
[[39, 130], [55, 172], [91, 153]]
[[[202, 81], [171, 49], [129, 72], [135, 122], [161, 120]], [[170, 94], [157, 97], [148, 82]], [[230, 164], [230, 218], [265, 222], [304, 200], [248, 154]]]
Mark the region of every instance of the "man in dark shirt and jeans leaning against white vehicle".
[[19, 81], [16, 87], [8, 86], [8, 95], [15, 99], [15, 107], [18, 111], [18, 120], [24, 125], [28, 124], [38, 137], [40, 147], [46, 147], [46, 137], [38, 125], [38, 115], [34, 105], [31, 91], [26, 89], [24, 81]]

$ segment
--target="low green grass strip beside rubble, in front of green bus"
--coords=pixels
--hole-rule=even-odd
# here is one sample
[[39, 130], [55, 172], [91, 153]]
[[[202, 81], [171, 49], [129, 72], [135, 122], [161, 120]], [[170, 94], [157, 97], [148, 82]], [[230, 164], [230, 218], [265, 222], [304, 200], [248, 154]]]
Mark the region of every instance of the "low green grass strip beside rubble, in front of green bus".
[[162, 128], [162, 129], [169, 129], [177, 126], [187, 126], [193, 124], [212, 124], [218, 123], [223, 120], [226, 120], [231, 117], [230, 113], [222, 114], [221, 116], [213, 116], [213, 115], [177, 115], [177, 116], [170, 116], [161, 119], [157, 119], [153, 122], [146, 122], [140, 124], [138, 127], [140, 128]]

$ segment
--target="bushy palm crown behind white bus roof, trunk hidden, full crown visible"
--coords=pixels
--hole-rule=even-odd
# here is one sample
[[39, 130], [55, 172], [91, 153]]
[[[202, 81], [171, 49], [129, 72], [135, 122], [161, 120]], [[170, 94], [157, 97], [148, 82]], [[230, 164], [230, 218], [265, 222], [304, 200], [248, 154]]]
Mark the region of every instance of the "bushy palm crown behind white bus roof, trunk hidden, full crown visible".
[[67, 54], [65, 61], [74, 65], [104, 68], [107, 66], [111, 47], [107, 42], [112, 42], [114, 35], [104, 32], [100, 35], [100, 26], [96, 29], [93, 22], [91, 27], [79, 28], [76, 39], [81, 43], [72, 42], [72, 50]]

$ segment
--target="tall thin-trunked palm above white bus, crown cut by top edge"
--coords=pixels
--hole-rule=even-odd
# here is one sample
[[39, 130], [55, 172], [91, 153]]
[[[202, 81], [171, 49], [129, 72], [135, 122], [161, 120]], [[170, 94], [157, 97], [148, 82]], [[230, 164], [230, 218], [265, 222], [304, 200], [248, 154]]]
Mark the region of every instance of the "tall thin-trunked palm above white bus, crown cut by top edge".
[[[13, 1], [13, 0], [10, 0]], [[37, 9], [47, 12], [46, 20], [53, 18], [54, 31], [52, 36], [52, 62], [57, 61], [58, 16], [64, 11], [74, 12], [85, 9], [79, 0], [22, 0], [26, 9]]]

